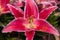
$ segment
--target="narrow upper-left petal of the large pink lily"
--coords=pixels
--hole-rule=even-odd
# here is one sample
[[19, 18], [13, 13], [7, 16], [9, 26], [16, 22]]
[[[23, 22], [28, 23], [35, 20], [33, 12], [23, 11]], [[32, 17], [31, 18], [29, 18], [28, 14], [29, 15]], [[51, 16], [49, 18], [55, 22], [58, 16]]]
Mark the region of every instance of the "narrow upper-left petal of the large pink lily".
[[12, 12], [12, 14], [18, 18], [18, 17], [23, 17], [23, 11], [20, 9], [20, 8], [15, 8], [14, 6], [10, 5], [10, 4], [7, 4], [10, 11]]

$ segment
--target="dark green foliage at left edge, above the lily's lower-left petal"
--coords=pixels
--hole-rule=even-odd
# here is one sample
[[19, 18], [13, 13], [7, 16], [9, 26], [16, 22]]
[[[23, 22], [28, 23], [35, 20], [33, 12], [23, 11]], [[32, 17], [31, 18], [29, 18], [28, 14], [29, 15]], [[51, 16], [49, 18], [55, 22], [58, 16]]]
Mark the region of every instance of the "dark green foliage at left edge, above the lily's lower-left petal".
[[13, 19], [14, 17], [11, 13], [3, 14], [0, 16], [0, 22], [2, 22], [4, 25], [7, 25]]

